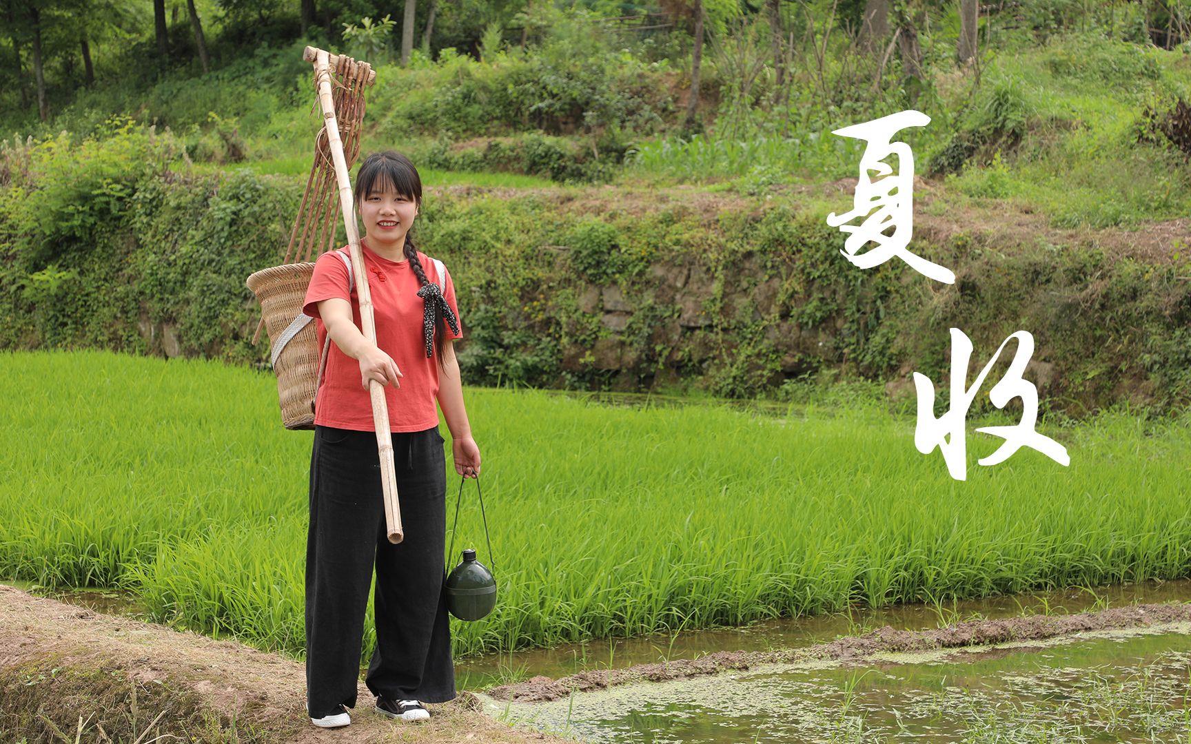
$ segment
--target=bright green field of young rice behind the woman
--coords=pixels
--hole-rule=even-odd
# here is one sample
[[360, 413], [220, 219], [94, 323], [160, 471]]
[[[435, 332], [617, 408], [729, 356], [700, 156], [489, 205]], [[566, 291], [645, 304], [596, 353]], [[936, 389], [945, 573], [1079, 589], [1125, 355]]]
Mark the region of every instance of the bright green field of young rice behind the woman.
[[[282, 429], [272, 373], [7, 352], [0, 380], [0, 577], [124, 586], [151, 619], [300, 655], [313, 433]], [[1000, 440], [969, 421], [960, 482], [880, 406], [466, 398], [500, 593], [455, 623], [459, 655], [1191, 575], [1189, 417], [1041, 421], [1067, 468], [979, 467]], [[464, 505], [484, 559], [474, 484]]]

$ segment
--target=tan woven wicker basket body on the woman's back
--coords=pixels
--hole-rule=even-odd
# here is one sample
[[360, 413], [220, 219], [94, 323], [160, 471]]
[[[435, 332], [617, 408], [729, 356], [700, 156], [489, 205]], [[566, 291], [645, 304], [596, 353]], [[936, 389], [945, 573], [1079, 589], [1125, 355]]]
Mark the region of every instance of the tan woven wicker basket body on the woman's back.
[[301, 312], [313, 275], [313, 263], [286, 263], [248, 277], [248, 288], [261, 302], [269, 333], [281, 423], [286, 429], [314, 429], [319, 349], [313, 318]]

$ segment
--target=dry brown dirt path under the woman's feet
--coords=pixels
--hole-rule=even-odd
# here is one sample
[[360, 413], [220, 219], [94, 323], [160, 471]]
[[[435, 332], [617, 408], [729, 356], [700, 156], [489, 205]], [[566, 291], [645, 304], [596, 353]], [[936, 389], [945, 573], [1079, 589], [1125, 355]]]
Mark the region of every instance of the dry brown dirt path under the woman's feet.
[[82, 742], [130, 744], [565, 740], [510, 729], [466, 693], [430, 706], [424, 724], [385, 719], [373, 700], [361, 682], [351, 725], [319, 730], [305, 714], [300, 662], [0, 584], [4, 742], [75, 742], [80, 730]]

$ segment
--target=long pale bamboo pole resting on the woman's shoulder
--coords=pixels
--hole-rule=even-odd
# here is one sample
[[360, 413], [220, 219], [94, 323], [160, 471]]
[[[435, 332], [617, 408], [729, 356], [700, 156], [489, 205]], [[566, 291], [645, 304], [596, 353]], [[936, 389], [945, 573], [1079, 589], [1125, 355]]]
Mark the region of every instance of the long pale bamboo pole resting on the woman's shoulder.
[[[356, 280], [356, 294], [360, 295], [360, 323], [364, 338], [376, 343], [376, 323], [373, 314], [372, 294], [368, 292], [368, 271], [364, 270], [364, 255], [360, 248], [360, 235], [356, 231], [356, 214], [351, 206], [351, 181], [348, 176], [348, 163], [343, 156], [343, 140], [339, 139], [339, 124], [335, 118], [335, 102], [331, 95], [332, 61], [338, 58], [323, 49], [307, 46], [303, 57], [313, 58], [314, 79], [318, 81], [318, 100], [323, 106], [323, 119], [326, 127], [326, 140], [335, 161], [335, 177], [339, 186], [339, 207], [343, 211], [343, 226], [348, 232], [348, 245], [351, 250], [351, 273]], [[370, 80], [370, 76], [369, 76]], [[368, 394], [373, 405], [373, 427], [376, 430], [376, 448], [380, 455], [380, 479], [385, 492], [385, 526], [388, 542], [397, 544], [405, 538], [401, 530], [401, 509], [397, 496], [397, 471], [393, 468], [393, 436], [388, 431], [388, 405], [385, 401], [385, 387], [375, 380], [368, 381]]]

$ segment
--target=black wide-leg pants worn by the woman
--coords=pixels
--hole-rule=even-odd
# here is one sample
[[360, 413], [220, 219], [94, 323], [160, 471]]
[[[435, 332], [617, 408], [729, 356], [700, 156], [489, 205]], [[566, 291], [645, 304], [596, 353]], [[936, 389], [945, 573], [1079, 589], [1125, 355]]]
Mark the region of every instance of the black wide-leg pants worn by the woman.
[[306, 705], [311, 718], [356, 705], [373, 567], [376, 650], [364, 679], [374, 695], [455, 698], [443, 592], [447, 463], [438, 429], [393, 433], [405, 539], [386, 536], [376, 434], [314, 427], [306, 540]]

